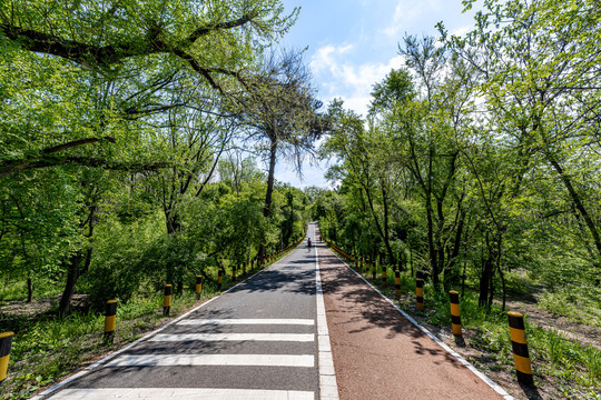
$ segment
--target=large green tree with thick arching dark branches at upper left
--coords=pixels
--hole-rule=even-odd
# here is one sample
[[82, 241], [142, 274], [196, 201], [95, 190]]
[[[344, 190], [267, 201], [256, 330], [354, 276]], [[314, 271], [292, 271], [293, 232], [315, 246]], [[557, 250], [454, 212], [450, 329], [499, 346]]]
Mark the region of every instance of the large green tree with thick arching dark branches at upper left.
[[[65, 254], [61, 313], [68, 312], [77, 279], [89, 266], [104, 191], [104, 174], [93, 170], [148, 173], [169, 167], [184, 180], [205, 171], [206, 159], [181, 173], [177, 157], [154, 151], [161, 141], [155, 124], [168, 120], [169, 111], [197, 107], [194, 88], [209, 88], [221, 98], [237, 90], [243, 72], [286, 32], [297, 12], [285, 16], [278, 0], [211, 7], [162, 0], [0, 6], [0, 68], [10, 81], [0, 93], [0, 117], [6, 117], [0, 178], [19, 181], [23, 171], [59, 168], [81, 186], [78, 200], [85, 211], [71, 216], [81, 230]], [[187, 93], [170, 96], [181, 88]]]

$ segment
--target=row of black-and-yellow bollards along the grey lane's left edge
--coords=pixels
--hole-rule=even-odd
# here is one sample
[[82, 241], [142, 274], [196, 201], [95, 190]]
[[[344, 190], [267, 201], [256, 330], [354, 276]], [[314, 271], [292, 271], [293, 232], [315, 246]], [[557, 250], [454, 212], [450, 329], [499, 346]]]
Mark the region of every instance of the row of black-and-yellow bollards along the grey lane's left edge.
[[[295, 242], [293, 246], [287, 247], [286, 249], [282, 251], [276, 251], [269, 253], [266, 259], [263, 260], [256, 260], [256, 266], [263, 266], [265, 262], [273, 262], [275, 261], [279, 256], [283, 253], [288, 252], [294, 247], [298, 246], [303, 239]], [[236, 272], [238, 270], [239, 266], [234, 267], [231, 272], [231, 279], [236, 281]], [[255, 269], [255, 260], [250, 260], [250, 271]], [[243, 273], [246, 274], [247, 264], [243, 263]], [[223, 286], [223, 274], [224, 271], [219, 269], [217, 272], [217, 289], [220, 291]], [[200, 292], [203, 290], [203, 277], [196, 276], [196, 299], [200, 299]], [[162, 300], [162, 314], [168, 317], [170, 309], [171, 309], [171, 294], [173, 294], [173, 286], [166, 284], [165, 291], [164, 291], [164, 300]], [[115, 339], [115, 328], [117, 324], [117, 300], [109, 300], [106, 303], [105, 309], [105, 334], [104, 334], [104, 343], [105, 344], [112, 344]], [[0, 382], [7, 379], [8, 373], [8, 364], [9, 364], [9, 358], [10, 358], [10, 349], [12, 347], [12, 338], [14, 333], [13, 332], [2, 332], [0, 333]]]

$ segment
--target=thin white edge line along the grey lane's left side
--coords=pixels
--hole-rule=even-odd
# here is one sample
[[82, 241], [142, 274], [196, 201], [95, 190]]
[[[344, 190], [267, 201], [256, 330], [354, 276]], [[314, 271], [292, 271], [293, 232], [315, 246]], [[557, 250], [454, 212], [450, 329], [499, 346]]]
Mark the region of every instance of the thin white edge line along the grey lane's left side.
[[218, 298], [220, 298], [223, 294], [234, 290], [235, 288], [237, 288], [238, 286], [245, 283], [247, 280], [249, 280], [250, 278], [254, 278], [256, 276], [258, 276], [259, 273], [266, 271], [267, 269], [269, 269], [272, 266], [274, 266], [275, 263], [278, 263], [280, 262], [282, 260], [286, 259], [288, 256], [292, 254], [292, 252], [295, 250], [296, 248], [292, 249], [286, 256], [284, 256], [283, 258], [280, 258], [279, 260], [275, 261], [273, 264], [268, 266], [267, 268], [264, 268], [262, 269], [260, 271], [257, 271], [255, 273], [253, 273], [252, 276], [247, 277], [245, 280], [236, 283], [235, 286], [221, 291], [219, 294], [208, 299], [207, 301], [203, 302], [201, 304], [198, 304], [197, 307], [193, 308], [191, 310], [183, 313], [181, 316], [175, 318], [174, 320], [167, 322], [166, 324], [164, 324], [162, 327], [154, 330], [154, 331], [150, 331], [148, 333], [146, 333], [145, 336], [142, 336], [141, 338], [132, 341], [131, 343], [127, 344], [126, 347], [115, 351], [115, 352], [111, 352], [110, 354], [108, 354], [107, 357], [96, 361], [95, 363], [83, 368], [83, 370], [79, 371], [79, 372], [76, 372], [75, 374], [68, 377], [67, 379], [58, 382], [57, 384], [53, 384], [51, 386], [50, 388], [46, 389], [45, 391], [42, 391], [41, 393], [39, 394], [36, 394], [35, 397], [32, 397], [30, 400], [43, 400], [43, 399], [47, 399], [49, 396], [51, 396], [53, 392], [56, 392], [57, 390], [59, 390], [60, 388], [62, 388], [63, 386], [68, 384], [68, 383], [71, 383], [72, 381], [81, 378], [81, 377], [85, 377], [87, 376], [88, 373], [90, 373], [91, 371], [96, 370], [98, 367], [101, 367], [104, 364], [106, 364], [108, 361], [112, 360], [114, 358], [118, 357], [119, 354], [130, 350], [131, 348], [136, 347], [137, 344], [139, 343], [142, 343], [145, 341], [147, 341], [148, 339], [151, 339], [152, 337], [155, 337], [157, 333], [166, 330], [167, 328], [178, 323], [179, 321], [186, 319], [188, 316], [190, 316], [191, 313], [200, 310], [201, 308], [204, 308], [205, 306], [208, 306], [210, 302], [213, 302], [214, 300], [217, 300]]

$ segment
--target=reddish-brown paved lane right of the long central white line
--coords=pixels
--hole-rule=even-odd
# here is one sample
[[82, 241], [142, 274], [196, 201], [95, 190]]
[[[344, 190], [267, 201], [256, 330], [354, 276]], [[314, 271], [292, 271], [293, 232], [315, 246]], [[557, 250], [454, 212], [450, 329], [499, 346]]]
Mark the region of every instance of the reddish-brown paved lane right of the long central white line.
[[318, 254], [341, 399], [506, 396], [411, 323], [322, 243]]

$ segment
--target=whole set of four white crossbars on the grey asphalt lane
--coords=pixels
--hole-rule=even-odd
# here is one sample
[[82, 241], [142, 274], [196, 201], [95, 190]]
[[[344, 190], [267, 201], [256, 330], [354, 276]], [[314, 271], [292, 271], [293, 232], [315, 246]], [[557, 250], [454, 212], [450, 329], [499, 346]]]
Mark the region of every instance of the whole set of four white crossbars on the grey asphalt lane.
[[[245, 332], [249, 327], [254, 330], [266, 332]], [[283, 328], [284, 332], [274, 332]], [[275, 329], [274, 329], [275, 328]], [[290, 330], [300, 329], [300, 333], [292, 333]], [[146, 349], [154, 349], [151, 353], [145, 349], [132, 350], [105, 363], [104, 369], [129, 374], [145, 373], [144, 369], [173, 368], [173, 367], [220, 367], [220, 368], [264, 368], [264, 369], [306, 369], [315, 370], [316, 352], [314, 351], [316, 328], [314, 319], [203, 319], [190, 318], [177, 322], [173, 332], [158, 333], [148, 339]], [[190, 331], [191, 330], [191, 331]], [[216, 331], [217, 330], [217, 331]], [[268, 344], [273, 353], [245, 352], [245, 348], [252, 342]], [[195, 347], [195, 343], [218, 344]], [[228, 346], [231, 343], [231, 346]], [[304, 347], [309, 353], [287, 353], [290, 343], [309, 344]], [[302, 347], [303, 348], [303, 347]], [[184, 349], [186, 351], [169, 353], [171, 350]], [[132, 353], [134, 352], [134, 353]], [[141, 352], [141, 353], [135, 353]], [[207, 353], [209, 352], [209, 353]], [[132, 372], [136, 371], [136, 372]], [[150, 371], [148, 371], [150, 372]], [[203, 373], [198, 370], [194, 373]], [[169, 373], [165, 371], [165, 373]], [[236, 376], [237, 372], [234, 373]], [[254, 374], [253, 370], [240, 370], [238, 373]], [[139, 382], [134, 376], [129, 383]], [[158, 383], [158, 382], [157, 382]], [[285, 382], [284, 382], [285, 383]], [[164, 386], [164, 384], [161, 384]], [[315, 399], [315, 391], [309, 390], [283, 390], [283, 389], [257, 389], [257, 388], [67, 388], [52, 396], [52, 400], [77, 399]]]

